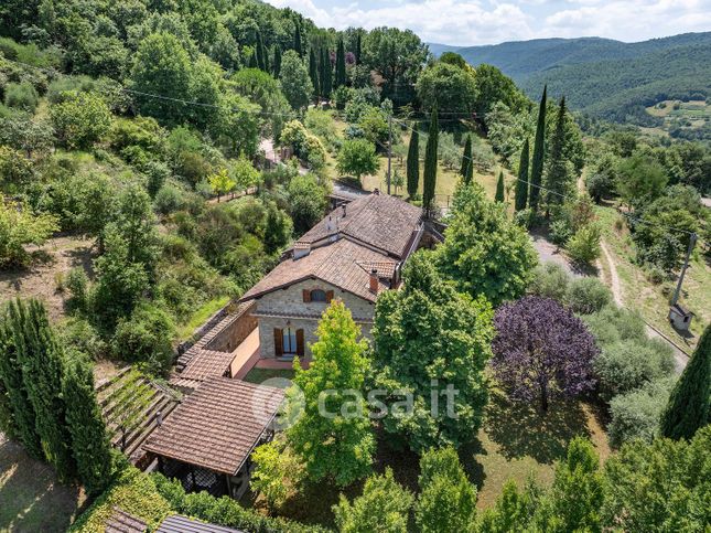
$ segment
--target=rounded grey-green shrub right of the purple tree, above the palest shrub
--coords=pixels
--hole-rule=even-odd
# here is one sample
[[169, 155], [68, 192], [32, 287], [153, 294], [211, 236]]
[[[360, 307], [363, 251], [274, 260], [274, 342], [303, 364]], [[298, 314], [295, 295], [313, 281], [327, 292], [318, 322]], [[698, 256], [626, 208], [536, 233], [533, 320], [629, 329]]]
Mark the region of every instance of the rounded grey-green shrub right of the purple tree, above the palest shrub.
[[667, 377], [674, 371], [671, 350], [657, 342], [627, 340], [605, 347], [593, 361], [600, 395], [605, 401]]

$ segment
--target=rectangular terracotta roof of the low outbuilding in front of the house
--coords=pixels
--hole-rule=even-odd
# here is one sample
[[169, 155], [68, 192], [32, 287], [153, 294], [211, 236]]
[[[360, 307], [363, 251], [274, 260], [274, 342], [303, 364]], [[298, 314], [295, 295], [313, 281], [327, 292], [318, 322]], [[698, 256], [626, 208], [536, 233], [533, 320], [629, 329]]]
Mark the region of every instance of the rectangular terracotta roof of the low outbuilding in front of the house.
[[159, 456], [230, 476], [258, 444], [283, 391], [228, 377], [203, 382], [148, 438]]

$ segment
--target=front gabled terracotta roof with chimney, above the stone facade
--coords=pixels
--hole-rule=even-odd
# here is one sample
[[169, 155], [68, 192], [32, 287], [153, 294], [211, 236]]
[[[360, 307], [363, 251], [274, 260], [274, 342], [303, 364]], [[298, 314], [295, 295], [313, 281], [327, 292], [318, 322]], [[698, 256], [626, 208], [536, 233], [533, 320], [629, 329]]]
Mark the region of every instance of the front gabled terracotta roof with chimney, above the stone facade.
[[[283, 260], [245, 292], [241, 300], [257, 298], [297, 281], [317, 278], [365, 300], [375, 301], [377, 295], [369, 289], [370, 273], [360, 266], [362, 263], [377, 263], [383, 265], [384, 270], [394, 270], [397, 265], [396, 259], [388, 259], [366, 246], [342, 238], [328, 246], [314, 248], [299, 259]], [[380, 281], [378, 292], [388, 288], [388, 285]]]

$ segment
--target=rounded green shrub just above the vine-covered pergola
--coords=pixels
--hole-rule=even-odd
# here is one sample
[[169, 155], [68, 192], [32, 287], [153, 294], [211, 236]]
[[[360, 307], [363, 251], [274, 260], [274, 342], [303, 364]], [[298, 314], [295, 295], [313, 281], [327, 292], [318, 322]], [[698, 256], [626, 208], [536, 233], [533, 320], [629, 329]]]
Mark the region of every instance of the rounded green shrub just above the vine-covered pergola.
[[152, 374], [165, 373], [173, 360], [171, 340], [175, 326], [162, 309], [143, 303], [131, 316], [121, 318], [111, 339], [114, 355], [120, 360], [143, 363]]

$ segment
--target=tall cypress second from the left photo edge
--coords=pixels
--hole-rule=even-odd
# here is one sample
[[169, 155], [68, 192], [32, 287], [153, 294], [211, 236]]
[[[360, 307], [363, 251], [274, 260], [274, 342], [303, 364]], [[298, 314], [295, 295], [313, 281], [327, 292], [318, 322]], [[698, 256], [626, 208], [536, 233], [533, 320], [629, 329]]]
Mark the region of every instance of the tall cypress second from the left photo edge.
[[47, 312], [37, 300], [10, 305], [10, 316], [22, 365], [22, 380], [34, 407], [35, 429], [47, 461], [57, 477], [68, 481], [75, 477], [71, 439], [65, 424], [66, 406], [62, 398], [64, 354], [50, 328]]

